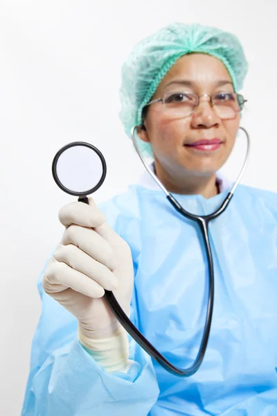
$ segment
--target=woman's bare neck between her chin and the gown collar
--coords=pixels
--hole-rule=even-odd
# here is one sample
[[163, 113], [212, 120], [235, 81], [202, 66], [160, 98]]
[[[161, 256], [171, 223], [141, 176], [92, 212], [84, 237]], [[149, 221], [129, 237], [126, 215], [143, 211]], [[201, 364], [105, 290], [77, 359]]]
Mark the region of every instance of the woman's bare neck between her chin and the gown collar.
[[159, 180], [169, 192], [179, 195], [202, 195], [204, 198], [212, 198], [219, 193], [216, 184], [215, 173], [211, 176], [196, 175], [170, 175], [161, 168], [157, 161], [154, 164], [155, 172]]

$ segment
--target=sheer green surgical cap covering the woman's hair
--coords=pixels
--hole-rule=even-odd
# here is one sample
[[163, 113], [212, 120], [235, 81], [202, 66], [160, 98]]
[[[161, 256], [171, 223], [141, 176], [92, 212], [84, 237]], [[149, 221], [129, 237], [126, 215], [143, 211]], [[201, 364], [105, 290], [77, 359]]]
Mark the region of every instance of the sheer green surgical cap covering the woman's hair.
[[200, 24], [170, 24], [136, 44], [123, 64], [120, 119], [128, 136], [134, 125], [141, 125], [143, 107], [172, 65], [193, 52], [220, 59], [230, 73], [235, 92], [242, 88], [248, 64], [238, 37]]

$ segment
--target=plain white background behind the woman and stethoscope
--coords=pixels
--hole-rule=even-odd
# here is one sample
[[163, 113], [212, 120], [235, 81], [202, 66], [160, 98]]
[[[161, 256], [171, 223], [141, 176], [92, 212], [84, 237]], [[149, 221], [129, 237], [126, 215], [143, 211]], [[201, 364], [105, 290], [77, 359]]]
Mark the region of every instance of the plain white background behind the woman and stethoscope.
[[81, 140], [104, 153], [97, 201], [136, 180], [143, 166], [118, 119], [120, 66], [142, 37], [172, 21], [197, 22], [244, 46], [242, 125], [252, 151], [242, 182], [277, 191], [276, 18], [276, 0], [0, 1], [1, 415], [20, 414], [40, 313], [35, 282], [62, 235], [57, 212], [74, 200], [53, 182], [57, 150]]

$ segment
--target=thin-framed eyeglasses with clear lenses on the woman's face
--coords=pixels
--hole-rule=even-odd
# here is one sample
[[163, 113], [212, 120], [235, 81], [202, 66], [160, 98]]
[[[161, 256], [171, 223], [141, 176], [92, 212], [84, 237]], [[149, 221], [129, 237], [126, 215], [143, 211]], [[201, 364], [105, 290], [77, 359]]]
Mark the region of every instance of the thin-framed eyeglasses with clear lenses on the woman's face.
[[217, 94], [203, 94], [198, 96], [192, 92], [167, 92], [163, 98], [150, 101], [145, 107], [154, 103], [163, 103], [164, 111], [172, 116], [172, 119], [182, 119], [193, 114], [199, 105], [200, 97], [210, 97], [210, 105], [220, 119], [233, 119], [235, 114], [242, 111], [244, 97], [235, 92], [219, 92]]

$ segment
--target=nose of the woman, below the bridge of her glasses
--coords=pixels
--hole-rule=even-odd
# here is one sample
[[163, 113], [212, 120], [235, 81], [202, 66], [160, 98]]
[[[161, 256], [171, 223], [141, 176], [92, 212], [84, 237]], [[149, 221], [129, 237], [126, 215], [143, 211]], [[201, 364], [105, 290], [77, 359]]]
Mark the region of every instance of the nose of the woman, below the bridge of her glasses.
[[211, 128], [220, 125], [220, 118], [215, 114], [209, 98], [199, 101], [199, 105], [192, 114], [194, 128]]

